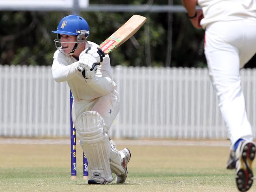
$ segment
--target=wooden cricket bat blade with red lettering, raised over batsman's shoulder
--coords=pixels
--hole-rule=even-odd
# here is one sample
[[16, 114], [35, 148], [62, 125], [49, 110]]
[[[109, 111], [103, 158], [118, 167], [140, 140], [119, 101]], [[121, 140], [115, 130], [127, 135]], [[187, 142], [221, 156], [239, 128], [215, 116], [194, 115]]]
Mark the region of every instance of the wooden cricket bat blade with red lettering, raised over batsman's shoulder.
[[119, 47], [122, 43], [130, 39], [141, 26], [146, 22], [147, 18], [141, 15], [133, 15], [125, 24], [121, 26], [108, 39], [102, 42], [99, 48], [109, 54], [113, 49]]

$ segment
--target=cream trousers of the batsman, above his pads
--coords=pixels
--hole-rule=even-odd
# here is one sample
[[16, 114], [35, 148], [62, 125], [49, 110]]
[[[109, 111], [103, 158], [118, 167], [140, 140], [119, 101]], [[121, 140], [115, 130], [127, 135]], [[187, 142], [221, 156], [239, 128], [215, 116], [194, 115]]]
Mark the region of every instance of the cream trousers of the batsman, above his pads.
[[116, 90], [93, 101], [74, 100], [72, 105], [72, 120], [85, 111], [97, 111], [103, 118], [104, 129], [108, 131], [120, 109], [120, 98]]

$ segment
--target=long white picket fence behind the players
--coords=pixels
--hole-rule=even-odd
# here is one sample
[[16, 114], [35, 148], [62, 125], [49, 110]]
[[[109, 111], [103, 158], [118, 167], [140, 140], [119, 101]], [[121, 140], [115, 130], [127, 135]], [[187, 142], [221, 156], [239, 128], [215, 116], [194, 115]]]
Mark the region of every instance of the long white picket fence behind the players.
[[[247, 113], [256, 127], [256, 70], [241, 70]], [[113, 67], [121, 110], [115, 138], [228, 138], [206, 68]], [[0, 65], [0, 136], [69, 137], [67, 83], [50, 66]]]

